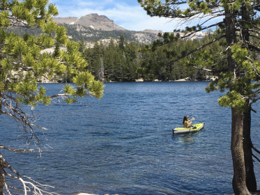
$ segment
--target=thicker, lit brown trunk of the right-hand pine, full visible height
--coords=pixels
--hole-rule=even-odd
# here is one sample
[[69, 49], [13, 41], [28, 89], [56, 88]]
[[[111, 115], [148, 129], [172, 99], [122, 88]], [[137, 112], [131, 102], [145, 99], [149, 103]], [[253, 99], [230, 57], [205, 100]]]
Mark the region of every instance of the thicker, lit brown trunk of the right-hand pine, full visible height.
[[[229, 47], [236, 44], [236, 17], [235, 10], [225, 10], [225, 24], [226, 24], [226, 40]], [[232, 58], [231, 48], [227, 51], [227, 63], [229, 72], [237, 74], [237, 64]], [[236, 76], [236, 75], [234, 75]], [[232, 91], [232, 86], [230, 86]], [[245, 181], [245, 157], [243, 149], [243, 114], [238, 114], [235, 108], [231, 108], [232, 112], [232, 130], [231, 130], [231, 153], [233, 160], [234, 178], [232, 186], [236, 195], [250, 195]]]

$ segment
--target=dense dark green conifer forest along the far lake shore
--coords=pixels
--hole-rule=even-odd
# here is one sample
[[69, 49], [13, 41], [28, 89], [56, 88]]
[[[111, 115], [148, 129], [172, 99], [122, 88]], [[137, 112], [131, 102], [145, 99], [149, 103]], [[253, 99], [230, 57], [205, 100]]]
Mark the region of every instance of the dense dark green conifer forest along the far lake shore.
[[190, 63], [192, 56], [176, 63], [168, 61], [169, 56], [185, 55], [181, 51], [188, 52], [199, 47], [209, 38], [211, 36], [201, 40], [180, 40], [153, 51], [156, 42], [147, 45], [128, 41], [121, 35], [118, 41], [111, 39], [107, 46], [95, 42], [93, 47], [84, 47], [84, 40], [81, 40], [80, 48], [89, 63], [87, 68], [101, 81], [135, 81], [139, 78], [145, 81], [174, 81], [187, 77], [190, 80], [206, 80], [212, 75], [201, 68], [194, 68]]

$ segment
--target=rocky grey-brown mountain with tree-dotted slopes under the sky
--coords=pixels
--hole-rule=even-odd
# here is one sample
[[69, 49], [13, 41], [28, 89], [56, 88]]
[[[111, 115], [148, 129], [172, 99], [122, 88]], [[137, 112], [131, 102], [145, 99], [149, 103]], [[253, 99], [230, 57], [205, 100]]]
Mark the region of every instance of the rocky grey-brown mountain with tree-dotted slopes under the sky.
[[66, 27], [70, 39], [92, 42], [91, 45], [93, 45], [93, 42], [100, 40], [102, 42], [109, 42], [110, 39], [118, 40], [120, 36], [123, 36], [128, 41], [149, 44], [159, 38], [158, 33], [163, 33], [162, 31], [147, 29], [144, 31], [130, 31], [118, 26], [107, 16], [96, 13], [82, 17], [54, 17], [53, 21]]

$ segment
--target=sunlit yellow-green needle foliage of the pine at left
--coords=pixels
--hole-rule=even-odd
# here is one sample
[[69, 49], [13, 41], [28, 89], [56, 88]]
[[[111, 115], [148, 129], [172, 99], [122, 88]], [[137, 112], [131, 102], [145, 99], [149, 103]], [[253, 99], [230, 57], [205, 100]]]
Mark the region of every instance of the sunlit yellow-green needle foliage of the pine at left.
[[[38, 103], [50, 104], [52, 96], [46, 95], [46, 88], [38, 86], [41, 79], [71, 77], [75, 89], [65, 86], [66, 102], [84, 95], [102, 97], [103, 85], [95, 81], [90, 72], [85, 72], [86, 60], [78, 51], [79, 44], [68, 40], [66, 28], [52, 22], [58, 14], [56, 7], [47, 0], [2, 1], [0, 12], [1, 97], [12, 93], [17, 102], [35, 107]], [[8, 11], [5, 11], [8, 10]], [[12, 33], [14, 26], [9, 18], [17, 18], [19, 29], [38, 27], [36, 33]], [[43, 52], [55, 45], [54, 54]], [[61, 49], [62, 48], [62, 49]], [[83, 72], [82, 72], [83, 71]], [[71, 97], [70, 97], [71, 96]]]

